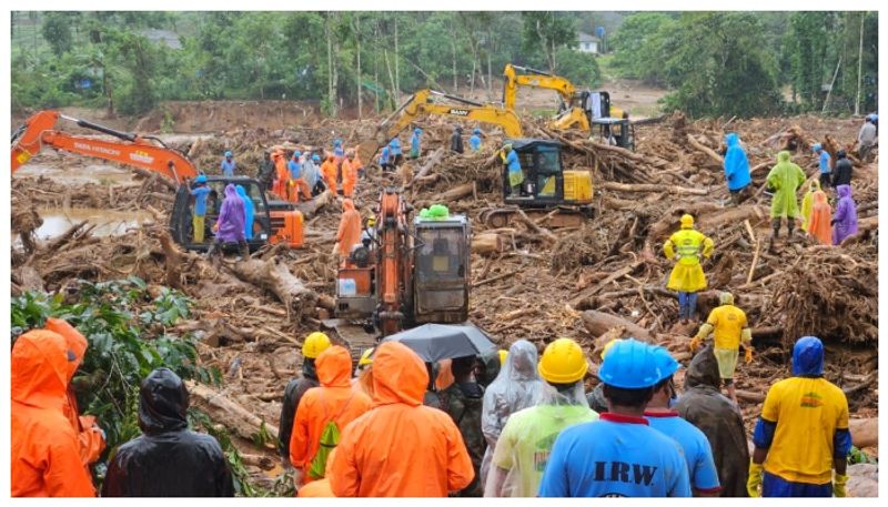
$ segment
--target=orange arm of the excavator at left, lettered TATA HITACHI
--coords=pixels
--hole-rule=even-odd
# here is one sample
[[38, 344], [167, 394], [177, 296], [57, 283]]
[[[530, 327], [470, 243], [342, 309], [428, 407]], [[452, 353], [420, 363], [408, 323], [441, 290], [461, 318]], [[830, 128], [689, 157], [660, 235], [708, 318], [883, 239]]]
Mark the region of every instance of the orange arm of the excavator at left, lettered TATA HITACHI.
[[[79, 126], [113, 135], [121, 141], [103, 141], [53, 130], [60, 118]], [[178, 183], [198, 175], [198, 170], [191, 161], [178, 151], [167, 148], [157, 138], [120, 132], [85, 120], [65, 116], [58, 111], [36, 113], [13, 134], [12, 172], [40, 153], [43, 146], [154, 171]]]

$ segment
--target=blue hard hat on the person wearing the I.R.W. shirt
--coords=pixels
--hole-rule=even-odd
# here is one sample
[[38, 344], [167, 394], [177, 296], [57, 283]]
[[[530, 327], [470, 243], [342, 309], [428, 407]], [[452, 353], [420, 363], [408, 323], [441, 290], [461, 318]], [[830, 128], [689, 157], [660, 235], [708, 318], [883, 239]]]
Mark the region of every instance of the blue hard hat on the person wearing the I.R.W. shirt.
[[635, 338], [617, 342], [604, 357], [598, 378], [609, 386], [642, 389], [662, 381], [655, 348]]

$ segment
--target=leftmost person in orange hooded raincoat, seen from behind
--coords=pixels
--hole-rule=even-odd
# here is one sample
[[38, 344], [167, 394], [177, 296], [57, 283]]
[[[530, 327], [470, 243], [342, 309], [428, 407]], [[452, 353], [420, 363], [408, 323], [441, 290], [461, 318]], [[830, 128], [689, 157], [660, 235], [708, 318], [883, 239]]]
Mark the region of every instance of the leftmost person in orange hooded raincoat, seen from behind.
[[73, 359], [64, 338], [52, 331], [30, 331], [12, 346], [13, 497], [95, 496], [77, 430], [64, 413]]

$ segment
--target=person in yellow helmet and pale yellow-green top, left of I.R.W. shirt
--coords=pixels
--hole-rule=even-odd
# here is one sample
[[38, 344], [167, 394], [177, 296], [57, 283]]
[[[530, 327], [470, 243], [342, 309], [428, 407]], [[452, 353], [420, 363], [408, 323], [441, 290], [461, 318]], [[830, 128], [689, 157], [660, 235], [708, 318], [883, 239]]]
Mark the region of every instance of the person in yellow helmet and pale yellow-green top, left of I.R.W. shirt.
[[583, 392], [588, 364], [575, 341], [558, 338], [546, 346], [539, 375], [547, 385], [538, 403], [508, 417], [493, 454], [484, 496], [533, 497], [558, 434], [598, 418]]

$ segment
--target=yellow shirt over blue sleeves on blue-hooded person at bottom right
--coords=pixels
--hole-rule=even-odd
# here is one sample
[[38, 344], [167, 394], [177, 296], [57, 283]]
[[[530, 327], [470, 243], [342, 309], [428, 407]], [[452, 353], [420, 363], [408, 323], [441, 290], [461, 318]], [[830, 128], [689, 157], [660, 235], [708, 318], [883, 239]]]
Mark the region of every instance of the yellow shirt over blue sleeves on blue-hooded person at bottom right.
[[776, 423], [765, 471], [791, 483], [833, 480], [833, 437], [848, 428], [848, 399], [825, 378], [791, 377], [774, 384], [761, 418]]

